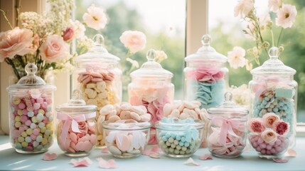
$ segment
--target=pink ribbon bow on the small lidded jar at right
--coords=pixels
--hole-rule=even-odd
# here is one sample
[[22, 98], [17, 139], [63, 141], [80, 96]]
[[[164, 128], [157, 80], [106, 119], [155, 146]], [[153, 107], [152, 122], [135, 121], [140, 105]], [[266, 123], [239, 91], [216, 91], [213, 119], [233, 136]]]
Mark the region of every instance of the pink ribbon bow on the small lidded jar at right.
[[240, 120], [239, 119], [225, 119], [223, 117], [220, 116], [215, 116], [213, 117], [212, 122], [221, 127], [220, 128], [220, 143], [226, 147], [227, 145], [227, 133], [238, 137], [238, 135], [236, 135], [233, 131], [233, 128], [237, 129], [240, 126]]

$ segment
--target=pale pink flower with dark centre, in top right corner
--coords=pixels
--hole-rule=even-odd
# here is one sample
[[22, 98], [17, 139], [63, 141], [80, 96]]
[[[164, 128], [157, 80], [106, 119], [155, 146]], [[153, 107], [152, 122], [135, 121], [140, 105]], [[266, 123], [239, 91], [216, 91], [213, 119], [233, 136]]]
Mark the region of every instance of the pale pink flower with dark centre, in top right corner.
[[275, 22], [277, 26], [282, 26], [283, 28], [291, 27], [296, 19], [296, 6], [291, 6], [289, 4], [283, 4], [282, 9], [277, 12], [277, 19]]

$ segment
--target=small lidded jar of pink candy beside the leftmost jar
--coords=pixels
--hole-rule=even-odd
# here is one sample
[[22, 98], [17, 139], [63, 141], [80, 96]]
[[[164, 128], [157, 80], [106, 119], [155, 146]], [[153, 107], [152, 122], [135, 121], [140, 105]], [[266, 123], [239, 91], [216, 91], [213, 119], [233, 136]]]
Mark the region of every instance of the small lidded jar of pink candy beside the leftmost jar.
[[65, 155], [82, 157], [90, 154], [97, 142], [96, 105], [86, 105], [80, 90], [73, 91], [69, 103], [58, 105], [57, 141]]

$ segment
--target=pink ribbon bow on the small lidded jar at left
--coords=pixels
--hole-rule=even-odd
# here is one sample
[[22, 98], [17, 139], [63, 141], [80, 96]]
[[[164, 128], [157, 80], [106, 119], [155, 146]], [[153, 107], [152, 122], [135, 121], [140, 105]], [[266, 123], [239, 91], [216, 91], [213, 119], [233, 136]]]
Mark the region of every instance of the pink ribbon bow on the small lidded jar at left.
[[65, 145], [65, 141], [68, 136], [69, 128], [71, 127], [72, 131], [74, 133], [82, 133], [80, 132], [80, 129], [78, 129], [78, 122], [84, 122], [88, 118], [94, 118], [96, 113], [88, 113], [88, 114], [80, 114], [76, 115], [74, 117], [71, 117], [70, 115], [66, 113], [58, 113], [57, 118], [59, 120], [65, 120], [65, 123], [63, 124], [63, 128], [60, 135], [60, 142], [63, 142], [63, 145]]

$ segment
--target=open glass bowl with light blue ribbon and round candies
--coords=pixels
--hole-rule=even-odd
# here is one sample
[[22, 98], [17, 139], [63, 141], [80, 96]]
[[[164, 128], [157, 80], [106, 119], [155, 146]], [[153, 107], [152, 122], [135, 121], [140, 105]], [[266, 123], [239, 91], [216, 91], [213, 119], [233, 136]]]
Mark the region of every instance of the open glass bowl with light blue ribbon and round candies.
[[169, 157], [190, 157], [203, 140], [204, 123], [201, 120], [163, 118], [155, 126], [158, 145]]

